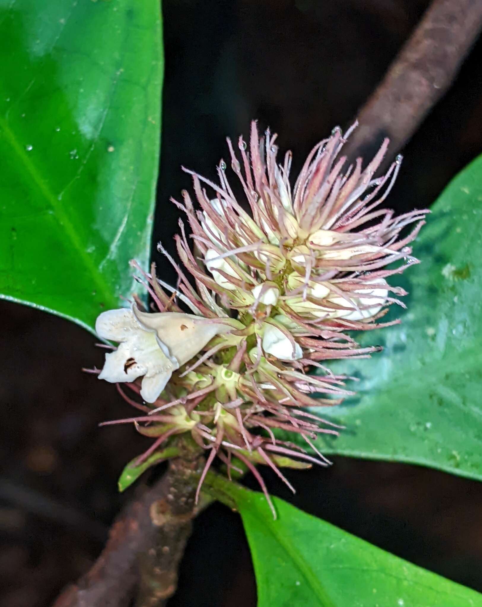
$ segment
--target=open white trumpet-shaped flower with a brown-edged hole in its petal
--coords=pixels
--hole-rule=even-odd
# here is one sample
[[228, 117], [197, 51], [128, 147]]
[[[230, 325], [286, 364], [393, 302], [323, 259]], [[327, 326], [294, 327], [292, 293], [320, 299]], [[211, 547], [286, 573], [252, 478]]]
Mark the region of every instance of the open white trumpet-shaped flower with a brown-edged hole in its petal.
[[221, 324], [202, 322], [194, 314], [140, 312], [120, 308], [98, 316], [95, 331], [119, 342], [106, 354], [98, 376], [111, 383], [132, 382], [143, 376], [140, 395], [146, 402], [159, 398], [173, 371], [195, 356], [216, 334], [229, 332]]

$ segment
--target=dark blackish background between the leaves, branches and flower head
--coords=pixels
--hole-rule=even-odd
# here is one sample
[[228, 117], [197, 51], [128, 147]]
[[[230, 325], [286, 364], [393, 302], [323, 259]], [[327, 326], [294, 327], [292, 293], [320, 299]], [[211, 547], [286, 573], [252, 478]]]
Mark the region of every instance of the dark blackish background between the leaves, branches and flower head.
[[[332, 127], [350, 124], [418, 22], [425, 0], [164, 0], [165, 89], [154, 243], [173, 250], [190, 185], [208, 177], [224, 137], [249, 121], [279, 133], [294, 172]], [[405, 148], [390, 197], [398, 211], [430, 205], [482, 152], [479, 42], [450, 92]], [[173, 278], [157, 254], [166, 280]], [[115, 388], [81, 373], [103, 352], [81, 328], [0, 302], [0, 602], [43, 607], [98, 555], [125, 500], [123, 465], [148, 439], [98, 429], [129, 414]], [[269, 471], [270, 492], [291, 498]], [[359, 537], [482, 591], [482, 484], [402, 464], [335, 458], [288, 474], [294, 503]], [[139, 483], [145, 483], [148, 480]], [[250, 479], [247, 479], [250, 483]], [[291, 500], [293, 501], [293, 500]], [[213, 506], [195, 521], [170, 607], [254, 607], [249, 551], [237, 515]]]

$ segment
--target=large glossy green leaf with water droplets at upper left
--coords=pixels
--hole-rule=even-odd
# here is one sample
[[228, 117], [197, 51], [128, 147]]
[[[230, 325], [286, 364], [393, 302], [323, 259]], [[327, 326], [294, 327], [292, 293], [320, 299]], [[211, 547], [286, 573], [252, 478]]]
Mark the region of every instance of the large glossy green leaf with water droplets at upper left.
[[146, 265], [159, 0], [0, 0], [0, 297], [95, 317]]

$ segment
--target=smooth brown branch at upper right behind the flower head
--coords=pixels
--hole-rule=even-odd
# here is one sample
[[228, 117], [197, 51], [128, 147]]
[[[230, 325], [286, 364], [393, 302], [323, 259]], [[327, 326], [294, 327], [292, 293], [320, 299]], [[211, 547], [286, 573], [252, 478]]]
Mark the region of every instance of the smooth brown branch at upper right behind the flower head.
[[360, 109], [343, 154], [371, 158], [384, 137], [390, 156], [398, 152], [449, 89], [481, 29], [481, 0], [434, 0]]

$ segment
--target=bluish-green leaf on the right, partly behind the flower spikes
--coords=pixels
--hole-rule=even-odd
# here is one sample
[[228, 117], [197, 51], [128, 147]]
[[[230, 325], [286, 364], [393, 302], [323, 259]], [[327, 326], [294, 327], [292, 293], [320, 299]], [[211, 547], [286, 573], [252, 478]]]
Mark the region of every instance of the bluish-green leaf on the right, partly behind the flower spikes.
[[317, 409], [346, 426], [317, 447], [482, 480], [482, 157], [432, 211], [414, 246], [421, 263], [391, 281], [410, 293], [408, 310], [387, 316], [401, 325], [357, 334], [384, 351], [331, 365], [360, 382], [345, 404]]

